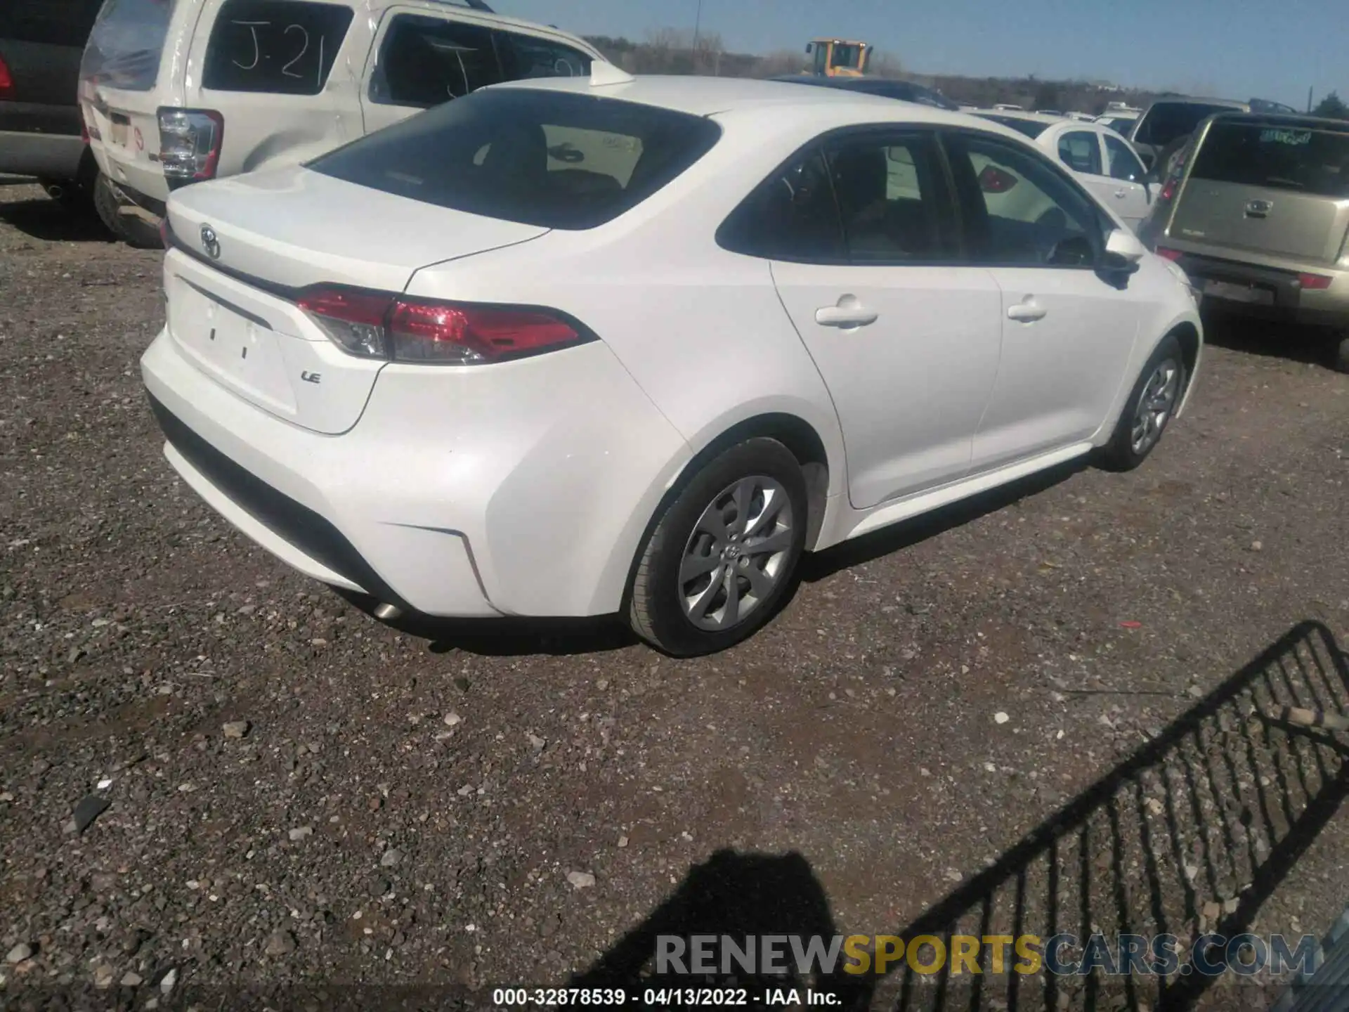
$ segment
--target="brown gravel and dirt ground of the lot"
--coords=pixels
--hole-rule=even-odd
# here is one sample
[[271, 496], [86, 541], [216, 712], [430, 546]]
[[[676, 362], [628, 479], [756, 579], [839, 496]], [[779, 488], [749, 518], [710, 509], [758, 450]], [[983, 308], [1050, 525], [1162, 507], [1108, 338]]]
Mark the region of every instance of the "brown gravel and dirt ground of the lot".
[[[390, 629], [235, 533], [142, 394], [159, 266], [0, 186], [0, 996], [490, 1004], [637, 982], [666, 932], [1183, 951], [1349, 903], [1345, 735], [1260, 718], [1349, 702], [1349, 376], [1310, 345], [1218, 328], [1140, 471], [813, 557], [753, 641], [672, 661], [606, 623]], [[1006, 1000], [969, 980], [943, 1000]]]

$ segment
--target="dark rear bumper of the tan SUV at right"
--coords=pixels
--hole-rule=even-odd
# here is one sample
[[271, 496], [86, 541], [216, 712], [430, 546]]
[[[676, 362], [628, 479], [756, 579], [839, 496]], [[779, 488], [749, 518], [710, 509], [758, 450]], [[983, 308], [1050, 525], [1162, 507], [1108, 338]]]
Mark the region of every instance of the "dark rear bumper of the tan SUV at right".
[[[1176, 263], [1203, 294], [1205, 306], [1263, 320], [1283, 320], [1322, 327], [1349, 324], [1349, 275], [1345, 271], [1319, 271], [1333, 281], [1329, 289], [1307, 290], [1298, 281], [1298, 271], [1259, 267], [1237, 260], [1182, 252]], [[1207, 290], [1206, 282], [1234, 285], [1268, 301], [1241, 301]]]

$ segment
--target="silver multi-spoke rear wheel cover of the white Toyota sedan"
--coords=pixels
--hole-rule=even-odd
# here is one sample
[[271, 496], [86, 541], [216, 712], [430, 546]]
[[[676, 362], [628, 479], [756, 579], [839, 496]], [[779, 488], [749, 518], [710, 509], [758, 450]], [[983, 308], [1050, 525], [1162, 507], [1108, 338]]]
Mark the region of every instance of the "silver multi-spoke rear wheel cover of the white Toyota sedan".
[[786, 575], [792, 524], [786, 488], [765, 475], [714, 497], [680, 557], [684, 617], [706, 631], [726, 631], [762, 607]]

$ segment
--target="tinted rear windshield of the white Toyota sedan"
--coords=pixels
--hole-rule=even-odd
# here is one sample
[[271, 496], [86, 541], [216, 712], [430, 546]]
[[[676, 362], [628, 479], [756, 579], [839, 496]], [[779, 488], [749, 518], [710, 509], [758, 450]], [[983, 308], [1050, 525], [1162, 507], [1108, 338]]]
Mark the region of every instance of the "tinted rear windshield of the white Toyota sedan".
[[534, 88], [475, 92], [309, 162], [383, 193], [546, 228], [594, 228], [701, 158], [720, 128], [653, 105]]

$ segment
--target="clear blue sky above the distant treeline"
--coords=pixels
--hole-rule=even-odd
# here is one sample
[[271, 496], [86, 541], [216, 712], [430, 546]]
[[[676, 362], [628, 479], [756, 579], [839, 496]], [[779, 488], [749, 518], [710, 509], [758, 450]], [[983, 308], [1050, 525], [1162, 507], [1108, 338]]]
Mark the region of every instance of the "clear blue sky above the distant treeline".
[[[490, 0], [583, 35], [692, 28], [697, 0]], [[858, 38], [917, 73], [1108, 78], [1303, 108], [1349, 100], [1349, 0], [703, 0], [730, 50]]]

